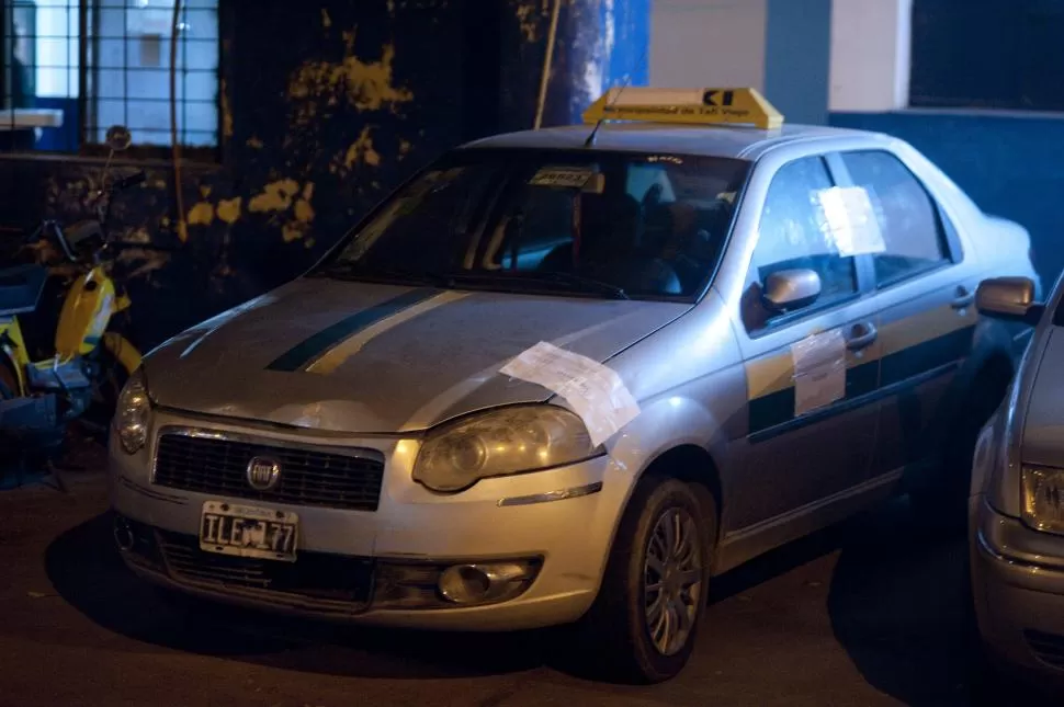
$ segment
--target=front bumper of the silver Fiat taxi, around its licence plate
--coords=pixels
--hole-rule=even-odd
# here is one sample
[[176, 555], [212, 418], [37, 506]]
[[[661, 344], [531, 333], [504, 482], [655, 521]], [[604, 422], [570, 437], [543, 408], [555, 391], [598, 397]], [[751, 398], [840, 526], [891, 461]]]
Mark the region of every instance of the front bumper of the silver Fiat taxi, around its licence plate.
[[[253, 436], [263, 444], [376, 449], [385, 459], [380, 503], [376, 511], [341, 510], [156, 484], [158, 432], [173, 425]], [[135, 455], [111, 442], [112, 506], [137, 538], [123, 552], [134, 572], [213, 600], [358, 624], [516, 630], [576, 620], [598, 592], [627, 490], [629, 475], [608, 457], [441, 495], [412, 481], [417, 443], [409, 440], [324, 438], [310, 431], [206, 424], [167, 413], [155, 415], [154, 427], [148, 447]], [[582, 495], [550, 501], [542, 495], [570, 490]], [[296, 562], [281, 567], [286, 563], [200, 550], [207, 500], [297, 513]], [[493, 561], [524, 562], [534, 580], [512, 598], [483, 605], [455, 605], [439, 593], [437, 582], [448, 567]]]

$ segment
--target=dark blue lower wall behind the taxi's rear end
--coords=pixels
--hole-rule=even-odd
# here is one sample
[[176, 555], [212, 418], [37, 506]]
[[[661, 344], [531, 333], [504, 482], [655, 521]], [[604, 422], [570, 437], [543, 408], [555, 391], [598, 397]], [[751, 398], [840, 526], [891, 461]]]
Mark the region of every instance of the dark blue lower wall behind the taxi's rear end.
[[1064, 269], [1064, 119], [992, 113], [833, 113], [833, 125], [907, 140], [980, 207], [1031, 231], [1046, 285]]

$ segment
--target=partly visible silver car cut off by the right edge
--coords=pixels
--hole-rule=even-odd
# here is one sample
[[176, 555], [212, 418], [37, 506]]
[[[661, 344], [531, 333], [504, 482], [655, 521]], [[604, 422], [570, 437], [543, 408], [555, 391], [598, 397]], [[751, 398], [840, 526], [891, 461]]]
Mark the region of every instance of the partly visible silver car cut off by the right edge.
[[970, 534], [978, 627], [1011, 668], [1064, 677], [1064, 280], [1048, 301], [1026, 278], [992, 280], [980, 310], [1037, 323], [1010, 394], [980, 436]]

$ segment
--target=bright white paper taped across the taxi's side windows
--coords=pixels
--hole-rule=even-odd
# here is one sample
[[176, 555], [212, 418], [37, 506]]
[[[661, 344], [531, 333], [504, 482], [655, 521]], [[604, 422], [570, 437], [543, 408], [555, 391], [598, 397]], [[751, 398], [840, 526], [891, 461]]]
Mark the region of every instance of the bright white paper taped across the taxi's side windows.
[[883, 231], [869, 191], [862, 186], [833, 186], [814, 192], [820, 231], [839, 255], [865, 255], [886, 250]]

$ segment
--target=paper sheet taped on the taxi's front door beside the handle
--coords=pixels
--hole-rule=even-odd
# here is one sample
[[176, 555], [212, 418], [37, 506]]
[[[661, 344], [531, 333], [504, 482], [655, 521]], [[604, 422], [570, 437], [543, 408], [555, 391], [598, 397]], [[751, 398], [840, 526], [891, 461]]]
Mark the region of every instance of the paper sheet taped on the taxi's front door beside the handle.
[[846, 340], [834, 329], [791, 344], [794, 414], [801, 415], [846, 397]]

